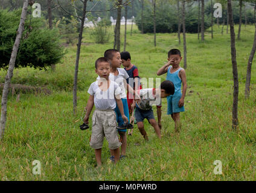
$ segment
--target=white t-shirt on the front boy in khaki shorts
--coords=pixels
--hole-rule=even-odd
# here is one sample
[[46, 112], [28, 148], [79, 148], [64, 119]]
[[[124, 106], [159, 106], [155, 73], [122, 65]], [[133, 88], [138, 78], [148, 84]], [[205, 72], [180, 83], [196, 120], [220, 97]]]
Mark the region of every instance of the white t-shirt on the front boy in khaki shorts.
[[95, 81], [89, 87], [88, 93], [94, 96], [94, 104], [97, 109], [110, 110], [115, 109], [115, 96], [121, 95], [122, 91], [117, 83], [110, 80], [109, 89], [103, 91], [98, 86], [98, 81]]

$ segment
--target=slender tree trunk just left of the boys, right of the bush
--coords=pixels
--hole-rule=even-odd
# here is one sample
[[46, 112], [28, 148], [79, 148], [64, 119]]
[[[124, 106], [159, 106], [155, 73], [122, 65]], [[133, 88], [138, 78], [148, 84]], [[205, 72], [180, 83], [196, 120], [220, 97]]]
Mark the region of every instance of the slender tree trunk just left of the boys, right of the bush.
[[77, 77], [78, 77], [78, 65], [80, 59], [80, 51], [83, 39], [83, 28], [85, 25], [85, 15], [86, 15], [86, 5], [87, 0], [83, 1], [83, 16], [81, 21], [81, 26], [79, 30], [78, 43], [77, 43], [77, 57], [75, 60], [75, 75], [74, 75], [74, 87], [73, 87], [73, 113], [75, 114], [77, 111]]

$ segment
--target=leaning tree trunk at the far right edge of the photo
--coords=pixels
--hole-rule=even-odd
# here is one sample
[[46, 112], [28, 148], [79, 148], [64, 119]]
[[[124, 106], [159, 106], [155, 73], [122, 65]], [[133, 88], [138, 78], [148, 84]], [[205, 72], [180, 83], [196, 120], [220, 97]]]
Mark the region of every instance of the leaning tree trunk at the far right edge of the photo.
[[256, 50], [256, 24], [255, 25], [255, 34], [254, 34], [254, 44], [252, 45], [252, 51], [249, 56], [247, 64], [247, 74], [246, 74], [246, 83], [245, 83], [245, 98], [250, 96], [250, 84], [251, 84], [251, 72], [252, 72], [252, 61], [254, 60], [254, 54]]

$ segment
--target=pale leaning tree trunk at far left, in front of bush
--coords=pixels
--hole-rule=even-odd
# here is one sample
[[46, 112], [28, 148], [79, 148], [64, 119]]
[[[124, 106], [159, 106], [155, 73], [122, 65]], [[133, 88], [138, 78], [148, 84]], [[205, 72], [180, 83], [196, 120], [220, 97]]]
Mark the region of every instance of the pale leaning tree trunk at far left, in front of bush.
[[21, 13], [21, 21], [19, 23], [19, 29], [17, 32], [16, 40], [13, 45], [13, 51], [11, 52], [11, 58], [9, 62], [9, 68], [7, 71], [7, 75], [5, 77], [4, 89], [2, 91], [2, 108], [1, 108], [1, 120], [0, 120], [0, 139], [4, 137], [5, 123], [7, 119], [7, 101], [8, 101], [8, 92], [10, 89], [11, 78], [13, 77], [13, 70], [15, 66], [15, 61], [19, 49], [19, 44], [21, 43], [22, 33], [24, 31], [25, 19], [28, 10], [28, 0], [24, 0], [22, 13]]

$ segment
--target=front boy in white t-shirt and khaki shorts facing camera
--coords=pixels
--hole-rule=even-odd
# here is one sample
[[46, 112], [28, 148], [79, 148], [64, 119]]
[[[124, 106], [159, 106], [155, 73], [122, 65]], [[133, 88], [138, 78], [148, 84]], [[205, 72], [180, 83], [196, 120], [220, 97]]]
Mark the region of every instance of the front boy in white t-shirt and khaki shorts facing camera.
[[121, 143], [117, 135], [117, 122], [115, 108], [118, 106], [121, 113], [121, 118], [124, 122], [128, 122], [124, 115], [123, 103], [121, 101], [122, 91], [117, 83], [109, 80], [111, 63], [108, 59], [102, 57], [95, 62], [95, 72], [100, 76], [100, 79], [95, 81], [89, 87], [90, 94], [87, 103], [87, 112], [84, 118], [85, 124], [89, 122], [89, 116], [92, 108], [96, 107], [92, 116], [92, 136], [90, 145], [95, 149], [95, 157], [97, 165], [101, 166], [101, 148], [103, 146], [104, 136], [109, 142], [109, 149], [113, 152], [116, 159], [120, 157]]

